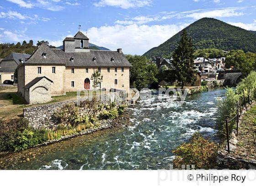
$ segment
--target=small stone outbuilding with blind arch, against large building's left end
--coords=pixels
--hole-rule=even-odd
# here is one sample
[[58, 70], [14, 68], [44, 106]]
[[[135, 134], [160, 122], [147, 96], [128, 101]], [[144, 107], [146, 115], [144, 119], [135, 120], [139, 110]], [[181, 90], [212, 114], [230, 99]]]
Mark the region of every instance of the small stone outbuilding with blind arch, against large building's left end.
[[53, 81], [47, 77], [37, 77], [27, 83], [24, 98], [28, 104], [47, 103], [52, 100], [51, 85]]

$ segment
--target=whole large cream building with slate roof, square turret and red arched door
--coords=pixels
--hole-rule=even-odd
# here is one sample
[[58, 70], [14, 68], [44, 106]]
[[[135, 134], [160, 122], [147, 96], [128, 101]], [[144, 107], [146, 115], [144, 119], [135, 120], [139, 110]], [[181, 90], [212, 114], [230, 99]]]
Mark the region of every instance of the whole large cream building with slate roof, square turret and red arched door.
[[91, 75], [95, 71], [103, 75], [97, 88], [128, 91], [131, 64], [122, 49], [91, 50], [88, 43], [89, 38], [81, 31], [64, 39], [63, 50], [42, 43], [18, 68], [18, 93], [32, 104], [47, 102], [49, 90], [56, 96], [81, 88], [94, 89]]

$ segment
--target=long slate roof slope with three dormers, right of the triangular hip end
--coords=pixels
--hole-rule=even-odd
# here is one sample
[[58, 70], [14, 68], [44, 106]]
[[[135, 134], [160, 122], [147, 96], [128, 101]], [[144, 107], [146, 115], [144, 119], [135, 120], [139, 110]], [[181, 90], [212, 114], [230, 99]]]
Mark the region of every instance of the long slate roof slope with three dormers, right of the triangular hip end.
[[[90, 52], [64, 52], [51, 49], [67, 67], [131, 67], [123, 53], [117, 51], [90, 50]], [[74, 58], [74, 62], [70, 58]], [[96, 57], [96, 61], [93, 58]], [[111, 59], [114, 58], [114, 61]]]

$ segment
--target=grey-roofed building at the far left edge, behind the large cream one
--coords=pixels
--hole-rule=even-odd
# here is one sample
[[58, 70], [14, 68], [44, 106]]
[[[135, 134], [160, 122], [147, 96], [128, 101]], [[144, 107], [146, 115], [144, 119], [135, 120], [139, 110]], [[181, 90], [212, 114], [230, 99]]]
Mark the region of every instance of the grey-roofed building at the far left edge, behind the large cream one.
[[0, 83], [5, 80], [14, 81], [14, 72], [18, 65], [25, 62], [30, 55], [12, 52], [0, 61]]

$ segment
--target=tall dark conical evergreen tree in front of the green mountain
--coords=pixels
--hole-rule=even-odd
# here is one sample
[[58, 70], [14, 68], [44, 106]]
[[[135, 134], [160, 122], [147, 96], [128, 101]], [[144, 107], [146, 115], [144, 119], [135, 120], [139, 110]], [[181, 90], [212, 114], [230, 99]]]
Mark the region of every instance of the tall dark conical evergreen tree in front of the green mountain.
[[193, 84], [196, 80], [194, 70], [194, 47], [192, 38], [187, 36], [187, 31], [183, 30], [181, 40], [173, 55], [173, 65], [176, 78], [181, 82], [183, 89], [186, 83]]

